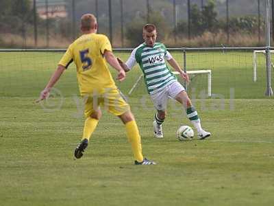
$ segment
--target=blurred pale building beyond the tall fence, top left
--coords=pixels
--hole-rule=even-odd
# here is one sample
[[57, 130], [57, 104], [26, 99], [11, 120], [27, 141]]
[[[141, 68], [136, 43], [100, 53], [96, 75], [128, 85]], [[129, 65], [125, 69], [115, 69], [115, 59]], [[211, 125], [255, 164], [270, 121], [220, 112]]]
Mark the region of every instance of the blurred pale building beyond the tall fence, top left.
[[36, 11], [41, 19], [68, 16], [66, 0], [36, 0]]

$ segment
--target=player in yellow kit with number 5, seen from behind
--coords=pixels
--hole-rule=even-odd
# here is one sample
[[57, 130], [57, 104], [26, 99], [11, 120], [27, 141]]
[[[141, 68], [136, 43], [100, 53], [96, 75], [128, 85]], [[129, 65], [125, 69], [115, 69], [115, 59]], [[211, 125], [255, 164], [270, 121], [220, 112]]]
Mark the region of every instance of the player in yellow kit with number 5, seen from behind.
[[75, 62], [79, 91], [84, 100], [86, 100], [84, 111], [86, 121], [83, 137], [77, 148], [75, 148], [75, 157], [79, 159], [83, 156], [90, 136], [101, 117], [100, 106], [103, 106], [110, 113], [118, 116], [125, 124], [127, 137], [132, 144], [135, 164], [155, 164], [155, 162], [149, 161], [142, 156], [140, 135], [134, 115], [130, 111], [129, 105], [121, 98], [121, 94], [108, 70], [106, 62], [118, 71], [117, 80], [122, 81], [125, 79], [125, 71], [112, 53], [112, 46], [108, 37], [103, 34], [97, 34], [97, 20], [93, 14], [84, 14], [82, 16], [81, 30], [83, 35], [77, 38], [66, 50], [49, 83], [40, 93], [38, 101], [48, 97], [51, 88], [59, 80], [63, 71], [69, 67], [71, 62]]

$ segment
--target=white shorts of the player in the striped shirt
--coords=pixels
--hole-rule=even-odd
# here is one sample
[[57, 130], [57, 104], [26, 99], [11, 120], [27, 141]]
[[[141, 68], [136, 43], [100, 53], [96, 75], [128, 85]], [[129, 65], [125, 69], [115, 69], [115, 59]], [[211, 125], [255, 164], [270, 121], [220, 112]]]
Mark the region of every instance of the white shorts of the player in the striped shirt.
[[186, 91], [182, 84], [179, 82], [173, 82], [169, 86], [166, 86], [164, 89], [157, 93], [151, 94], [151, 100], [157, 110], [166, 111], [166, 105], [169, 98], [175, 99], [178, 93], [181, 91]]

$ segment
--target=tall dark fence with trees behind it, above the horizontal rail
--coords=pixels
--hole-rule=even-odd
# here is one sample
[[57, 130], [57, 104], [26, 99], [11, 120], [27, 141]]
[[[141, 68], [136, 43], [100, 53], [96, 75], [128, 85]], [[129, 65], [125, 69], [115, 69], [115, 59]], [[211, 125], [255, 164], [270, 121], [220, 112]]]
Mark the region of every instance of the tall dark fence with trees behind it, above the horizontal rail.
[[3, 0], [0, 10], [0, 45], [8, 48], [67, 47], [80, 35], [79, 19], [87, 12], [97, 16], [98, 32], [114, 47], [140, 44], [148, 22], [169, 47], [265, 42], [265, 0]]

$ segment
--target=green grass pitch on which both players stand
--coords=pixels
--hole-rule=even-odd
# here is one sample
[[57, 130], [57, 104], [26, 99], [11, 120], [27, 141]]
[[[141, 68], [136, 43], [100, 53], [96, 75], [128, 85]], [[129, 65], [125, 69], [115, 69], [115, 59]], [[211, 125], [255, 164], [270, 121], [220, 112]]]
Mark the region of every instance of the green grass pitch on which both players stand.
[[[226, 69], [220, 55], [197, 56], [200, 65], [195, 56], [188, 58], [194, 69], [210, 67], [206, 60], [214, 59], [210, 67], [216, 73], [213, 93], [227, 98], [229, 83], [235, 88], [234, 100], [194, 100], [203, 127], [212, 133], [206, 141], [177, 140], [177, 128], [190, 122], [173, 102], [163, 126], [164, 139], [155, 139], [153, 106], [143, 85], [129, 98], [143, 153], [158, 163], [154, 166], [133, 165], [123, 124], [105, 112], [84, 157], [73, 160], [84, 124], [73, 98], [77, 94], [73, 67], [58, 84], [64, 95], [60, 110], [45, 111], [34, 100], [60, 56], [41, 55], [41, 65], [21, 56], [9, 68], [8, 58], [1, 58], [0, 205], [272, 205], [273, 98], [263, 95], [263, 73], [252, 86], [252, 67], [236, 67], [234, 53], [229, 58], [232, 67], [226, 61]], [[240, 78], [229, 68], [245, 76]], [[129, 73], [129, 80], [119, 84], [122, 91], [129, 91], [139, 74], [137, 69]], [[206, 78], [198, 76], [192, 80], [200, 89], [205, 82]], [[145, 108], [142, 95], [147, 98]], [[57, 105], [59, 100], [54, 98], [46, 106]]]

